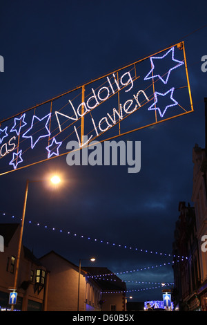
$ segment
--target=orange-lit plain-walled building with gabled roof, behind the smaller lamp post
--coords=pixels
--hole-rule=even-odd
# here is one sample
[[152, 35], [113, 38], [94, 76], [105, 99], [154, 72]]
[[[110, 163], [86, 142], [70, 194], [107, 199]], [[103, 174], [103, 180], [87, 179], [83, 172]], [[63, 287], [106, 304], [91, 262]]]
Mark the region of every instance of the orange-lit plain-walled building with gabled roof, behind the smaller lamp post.
[[[101, 288], [81, 268], [52, 251], [41, 257], [49, 270], [48, 311], [98, 311], [101, 310]], [[79, 300], [79, 306], [78, 306]]]

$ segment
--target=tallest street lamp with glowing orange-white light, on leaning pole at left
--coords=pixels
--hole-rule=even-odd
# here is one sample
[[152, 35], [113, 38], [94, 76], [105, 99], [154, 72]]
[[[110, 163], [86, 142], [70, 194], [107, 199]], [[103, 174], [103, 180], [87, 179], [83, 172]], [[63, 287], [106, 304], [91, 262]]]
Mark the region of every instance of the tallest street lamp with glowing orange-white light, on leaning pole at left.
[[[58, 176], [53, 176], [51, 179], [52, 183], [59, 183], [60, 178]], [[21, 243], [22, 243], [22, 237], [23, 237], [23, 226], [24, 226], [24, 220], [25, 220], [25, 213], [26, 213], [26, 204], [28, 199], [28, 187], [29, 183], [37, 183], [37, 182], [43, 182], [43, 180], [26, 180], [26, 190], [24, 195], [24, 201], [23, 201], [23, 212], [22, 212], [22, 218], [21, 218], [21, 229], [20, 229], [20, 235], [19, 235], [19, 246], [18, 246], [18, 252], [17, 252], [17, 266], [15, 271], [15, 277], [14, 277], [14, 289], [13, 292], [17, 290], [17, 279], [18, 279], [18, 273], [19, 273], [19, 262], [20, 262], [20, 255], [21, 255]], [[12, 310], [13, 310], [12, 305]]]

